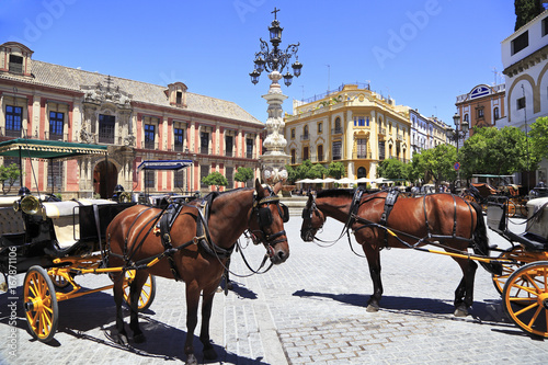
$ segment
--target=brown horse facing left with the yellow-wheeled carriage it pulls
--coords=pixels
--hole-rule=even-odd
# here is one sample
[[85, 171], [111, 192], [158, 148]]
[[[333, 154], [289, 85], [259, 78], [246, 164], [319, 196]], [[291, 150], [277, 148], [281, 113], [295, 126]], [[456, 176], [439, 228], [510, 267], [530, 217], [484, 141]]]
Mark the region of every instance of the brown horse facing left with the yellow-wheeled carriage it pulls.
[[[339, 238], [354, 232], [367, 258], [374, 284], [368, 311], [378, 310], [383, 295], [379, 255], [383, 248], [410, 248], [452, 256], [463, 271], [455, 290], [455, 316], [467, 315], [472, 305], [476, 262], [479, 262], [492, 274], [507, 317], [522, 330], [548, 338], [548, 198], [527, 203], [527, 227], [523, 233], [509, 229], [507, 197], [496, 197], [488, 204], [487, 226], [512, 243], [509, 250], [488, 244], [487, 226], [478, 204], [450, 194], [398, 199], [395, 191], [368, 194], [362, 190], [330, 190], [310, 195], [302, 210], [301, 238], [318, 239], [316, 233], [327, 217], [345, 224]], [[443, 251], [427, 249], [426, 244]], [[502, 252], [493, 256], [493, 251]]]

